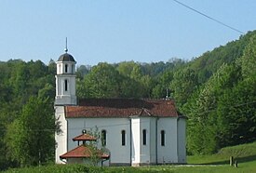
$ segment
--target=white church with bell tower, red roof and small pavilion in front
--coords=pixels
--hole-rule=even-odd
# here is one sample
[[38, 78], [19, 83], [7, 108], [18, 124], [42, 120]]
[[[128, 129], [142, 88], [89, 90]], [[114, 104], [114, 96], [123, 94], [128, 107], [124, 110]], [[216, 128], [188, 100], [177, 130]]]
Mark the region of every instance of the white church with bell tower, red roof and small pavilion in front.
[[[103, 166], [185, 164], [186, 117], [173, 100], [84, 99], [75, 95], [75, 60], [66, 52], [57, 61], [55, 116], [56, 163], [87, 163], [86, 132], [101, 133]], [[80, 142], [82, 141], [82, 142]]]

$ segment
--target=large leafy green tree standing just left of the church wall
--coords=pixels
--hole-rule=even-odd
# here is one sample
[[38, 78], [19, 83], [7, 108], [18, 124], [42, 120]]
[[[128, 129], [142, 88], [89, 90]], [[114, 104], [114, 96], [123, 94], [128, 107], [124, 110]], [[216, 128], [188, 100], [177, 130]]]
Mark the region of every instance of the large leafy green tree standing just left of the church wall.
[[48, 99], [32, 96], [7, 128], [7, 152], [20, 166], [46, 163], [54, 153], [54, 110]]

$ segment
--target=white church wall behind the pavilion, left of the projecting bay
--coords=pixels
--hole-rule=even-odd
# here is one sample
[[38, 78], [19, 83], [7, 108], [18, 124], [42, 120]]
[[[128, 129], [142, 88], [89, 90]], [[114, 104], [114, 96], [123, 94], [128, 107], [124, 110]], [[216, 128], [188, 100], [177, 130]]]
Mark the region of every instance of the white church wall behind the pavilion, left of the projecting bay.
[[[69, 118], [68, 151], [77, 147], [74, 137], [81, 135], [83, 129], [99, 132], [106, 130], [106, 146], [110, 151], [110, 164], [130, 164], [130, 120], [128, 118]], [[121, 131], [126, 131], [126, 145], [122, 146]]]

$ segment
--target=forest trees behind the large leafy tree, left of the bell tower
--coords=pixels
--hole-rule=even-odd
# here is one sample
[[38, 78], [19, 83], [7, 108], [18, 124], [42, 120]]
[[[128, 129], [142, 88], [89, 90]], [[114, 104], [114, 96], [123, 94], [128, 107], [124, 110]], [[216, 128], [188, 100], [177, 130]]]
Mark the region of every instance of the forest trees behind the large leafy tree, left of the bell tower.
[[[50, 65], [50, 64], [49, 64]], [[13, 121], [20, 119], [22, 107], [30, 96], [49, 97], [52, 104], [55, 96], [54, 73], [40, 60], [24, 62], [23, 60], [8, 60], [0, 62], [0, 169], [18, 166], [16, 160], [11, 161], [7, 153], [9, 128]], [[18, 126], [14, 126], [16, 129]], [[13, 129], [14, 130], [14, 129]], [[53, 145], [54, 146], [54, 145]]]

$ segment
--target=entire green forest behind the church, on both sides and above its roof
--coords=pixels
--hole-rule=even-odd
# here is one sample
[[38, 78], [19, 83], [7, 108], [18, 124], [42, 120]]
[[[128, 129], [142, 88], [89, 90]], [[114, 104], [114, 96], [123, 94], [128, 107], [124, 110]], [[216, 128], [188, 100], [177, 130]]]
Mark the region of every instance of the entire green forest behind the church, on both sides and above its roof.
[[[58, 58], [56, 58], [57, 60]], [[75, 59], [75, 58], [74, 58]], [[175, 100], [188, 154], [256, 140], [256, 32], [194, 60], [101, 62], [76, 69], [78, 98]], [[0, 61], [0, 170], [54, 160], [56, 64]]]

